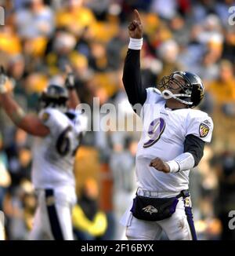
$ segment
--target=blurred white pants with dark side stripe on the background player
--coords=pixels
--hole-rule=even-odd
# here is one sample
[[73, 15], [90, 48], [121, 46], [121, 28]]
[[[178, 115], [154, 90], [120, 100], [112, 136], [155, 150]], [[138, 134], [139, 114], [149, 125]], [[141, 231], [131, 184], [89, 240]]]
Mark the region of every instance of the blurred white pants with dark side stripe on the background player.
[[71, 210], [76, 197], [53, 189], [39, 189], [30, 240], [74, 240]]

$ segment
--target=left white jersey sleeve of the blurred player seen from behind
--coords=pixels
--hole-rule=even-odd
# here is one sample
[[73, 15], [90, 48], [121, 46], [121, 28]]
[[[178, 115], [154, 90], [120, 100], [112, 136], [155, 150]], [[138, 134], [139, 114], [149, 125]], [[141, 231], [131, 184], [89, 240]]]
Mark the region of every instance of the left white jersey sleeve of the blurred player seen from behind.
[[52, 136], [59, 135], [64, 130], [63, 120], [60, 119], [60, 112], [55, 109], [48, 108], [40, 112], [39, 118], [42, 123], [49, 127]]

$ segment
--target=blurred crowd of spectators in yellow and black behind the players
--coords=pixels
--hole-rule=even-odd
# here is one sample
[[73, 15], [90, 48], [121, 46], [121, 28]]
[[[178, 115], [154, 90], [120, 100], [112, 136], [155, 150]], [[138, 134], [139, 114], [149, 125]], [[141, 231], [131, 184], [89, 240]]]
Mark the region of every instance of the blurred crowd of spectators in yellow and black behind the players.
[[[187, 70], [201, 76], [199, 106], [215, 123], [212, 143], [191, 171], [194, 221], [201, 240], [234, 240], [235, 210], [235, 25], [233, 0], [0, 0], [0, 62], [13, 78], [16, 101], [37, 113], [38, 95], [63, 83], [65, 64], [76, 75], [82, 103], [121, 104], [131, 118], [121, 75], [132, 9], [143, 18], [143, 85]], [[76, 155], [78, 240], [121, 240], [118, 221], [136, 189], [138, 132], [88, 132]], [[35, 205], [31, 185], [31, 137], [16, 129], [0, 108], [0, 210], [8, 240], [27, 240]], [[164, 238], [164, 236], [163, 236]]]

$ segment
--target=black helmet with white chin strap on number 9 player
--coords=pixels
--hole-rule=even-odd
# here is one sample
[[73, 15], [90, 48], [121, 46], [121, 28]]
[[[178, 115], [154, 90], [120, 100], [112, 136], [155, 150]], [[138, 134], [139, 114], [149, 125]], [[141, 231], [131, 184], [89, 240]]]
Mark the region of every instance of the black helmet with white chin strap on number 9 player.
[[[181, 77], [184, 82], [180, 82], [175, 77]], [[178, 85], [181, 90], [174, 93], [171, 83]], [[164, 76], [157, 85], [165, 99], [175, 98], [189, 108], [196, 107], [204, 97], [204, 85], [200, 77], [188, 71], [175, 71], [171, 75]]]

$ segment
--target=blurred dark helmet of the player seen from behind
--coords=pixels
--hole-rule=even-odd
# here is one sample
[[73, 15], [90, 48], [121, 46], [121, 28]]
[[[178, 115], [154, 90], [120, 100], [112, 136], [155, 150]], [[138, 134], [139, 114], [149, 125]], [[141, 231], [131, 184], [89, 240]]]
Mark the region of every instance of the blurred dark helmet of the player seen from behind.
[[41, 108], [66, 108], [68, 92], [62, 86], [49, 85], [39, 98]]

